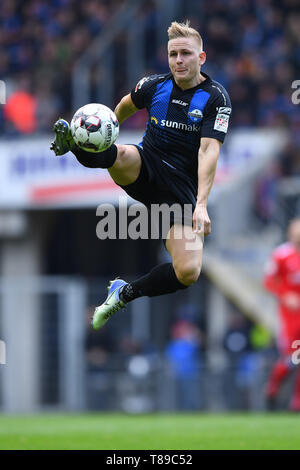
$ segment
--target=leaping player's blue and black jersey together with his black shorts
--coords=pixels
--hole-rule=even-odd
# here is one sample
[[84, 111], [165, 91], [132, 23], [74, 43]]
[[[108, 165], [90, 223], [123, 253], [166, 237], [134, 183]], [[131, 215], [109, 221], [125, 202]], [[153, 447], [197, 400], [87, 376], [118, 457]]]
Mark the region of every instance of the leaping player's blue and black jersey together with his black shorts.
[[[224, 141], [231, 113], [229, 96], [222, 85], [201, 74], [206, 79], [188, 90], [179, 88], [169, 73], [145, 77], [131, 92], [134, 105], [146, 108], [149, 119], [137, 146], [140, 174], [135, 182], [120, 186], [147, 207], [178, 203], [193, 209], [201, 138]], [[179, 223], [191, 225], [192, 212]]]

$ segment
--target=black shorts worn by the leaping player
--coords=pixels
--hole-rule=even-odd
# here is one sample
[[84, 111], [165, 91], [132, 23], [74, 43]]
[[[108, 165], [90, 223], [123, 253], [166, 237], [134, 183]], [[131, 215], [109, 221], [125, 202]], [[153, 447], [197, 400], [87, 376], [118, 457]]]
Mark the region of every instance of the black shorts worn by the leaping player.
[[[141, 202], [149, 210], [154, 211], [153, 205], [166, 204], [173, 206], [170, 211], [169, 227], [175, 223], [192, 226], [192, 215], [196, 204], [196, 194], [191, 184], [186, 184], [184, 178], [175, 168], [165, 164], [159, 158], [153, 158], [147, 152], [135, 145], [138, 149], [142, 166], [140, 174], [134, 183], [122, 186], [124, 191], [133, 199]], [[152, 213], [152, 212], [151, 212]], [[151, 222], [153, 222], [151, 218]], [[158, 221], [160, 237], [165, 238], [166, 230], [162, 229], [162, 220]], [[164, 224], [166, 227], [166, 224]]]

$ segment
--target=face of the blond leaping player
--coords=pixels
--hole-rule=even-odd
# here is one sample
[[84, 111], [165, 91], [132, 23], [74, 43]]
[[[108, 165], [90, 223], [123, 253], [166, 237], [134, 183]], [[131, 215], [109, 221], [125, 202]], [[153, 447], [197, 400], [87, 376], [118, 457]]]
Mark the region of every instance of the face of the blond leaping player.
[[200, 68], [206, 54], [196, 38], [171, 39], [168, 43], [169, 67], [176, 83], [183, 89], [201, 82]]

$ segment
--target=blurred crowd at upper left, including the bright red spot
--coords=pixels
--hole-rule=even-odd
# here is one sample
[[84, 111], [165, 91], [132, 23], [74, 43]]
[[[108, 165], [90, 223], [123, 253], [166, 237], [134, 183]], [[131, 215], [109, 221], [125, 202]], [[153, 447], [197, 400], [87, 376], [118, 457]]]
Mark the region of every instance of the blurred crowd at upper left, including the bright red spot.
[[[2, 125], [9, 122], [5, 132], [49, 132], [58, 114], [69, 112], [74, 63], [122, 3], [1, 0], [0, 78], [7, 88]], [[26, 109], [23, 119], [18, 107]]]

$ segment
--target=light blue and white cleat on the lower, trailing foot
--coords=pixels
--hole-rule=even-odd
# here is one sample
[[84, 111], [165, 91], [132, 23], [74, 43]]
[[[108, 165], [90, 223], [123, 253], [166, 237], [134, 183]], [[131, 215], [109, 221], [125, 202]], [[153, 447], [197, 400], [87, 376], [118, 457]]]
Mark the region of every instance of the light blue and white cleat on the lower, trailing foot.
[[128, 283], [122, 279], [114, 279], [113, 281], [110, 281], [107, 288], [108, 296], [105, 302], [99, 307], [96, 307], [94, 312], [92, 320], [92, 326], [94, 330], [99, 330], [99, 328], [102, 328], [102, 326], [105, 325], [107, 320], [109, 320], [114, 313], [125, 307], [126, 302], [123, 302], [120, 299], [119, 293], [121, 288], [127, 284]]

